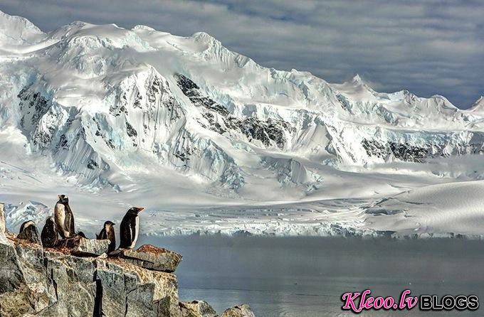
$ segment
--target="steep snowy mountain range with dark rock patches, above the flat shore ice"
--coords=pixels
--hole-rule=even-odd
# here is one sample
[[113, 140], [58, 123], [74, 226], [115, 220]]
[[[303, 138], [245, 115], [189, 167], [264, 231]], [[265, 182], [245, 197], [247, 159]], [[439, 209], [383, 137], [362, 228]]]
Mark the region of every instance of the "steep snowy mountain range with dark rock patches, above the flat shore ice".
[[43, 33], [0, 12], [0, 74], [6, 199], [25, 186], [19, 173], [48, 174], [52, 189], [68, 183], [118, 205], [131, 193], [156, 217], [191, 205], [371, 200], [484, 175], [439, 159], [480, 160], [482, 100], [461, 110], [438, 95], [376, 92], [358, 75], [332, 84], [264, 68], [206, 33], [83, 22]]

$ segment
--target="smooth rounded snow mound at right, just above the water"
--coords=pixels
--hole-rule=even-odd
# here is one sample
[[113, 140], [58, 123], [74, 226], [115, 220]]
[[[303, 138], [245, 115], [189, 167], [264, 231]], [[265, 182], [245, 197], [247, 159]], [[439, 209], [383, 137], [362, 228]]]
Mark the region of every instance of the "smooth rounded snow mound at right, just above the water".
[[366, 210], [374, 217], [367, 226], [414, 233], [465, 232], [482, 235], [484, 181], [445, 183], [409, 190]]

